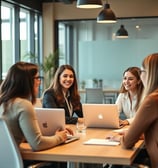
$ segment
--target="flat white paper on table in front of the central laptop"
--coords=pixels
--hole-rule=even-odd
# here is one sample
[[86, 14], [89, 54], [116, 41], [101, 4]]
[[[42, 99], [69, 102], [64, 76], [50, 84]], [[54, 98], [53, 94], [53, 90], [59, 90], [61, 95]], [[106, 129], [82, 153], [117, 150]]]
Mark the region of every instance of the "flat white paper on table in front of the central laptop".
[[119, 145], [120, 142], [111, 141], [108, 139], [89, 139], [85, 141], [83, 144], [85, 145], [109, 145], [109, 146], [116, 146]]

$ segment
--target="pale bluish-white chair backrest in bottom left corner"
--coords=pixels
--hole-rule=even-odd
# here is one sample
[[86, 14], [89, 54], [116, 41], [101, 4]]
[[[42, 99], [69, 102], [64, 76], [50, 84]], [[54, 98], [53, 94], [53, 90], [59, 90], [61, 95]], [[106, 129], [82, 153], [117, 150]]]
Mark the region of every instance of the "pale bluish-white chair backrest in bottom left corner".
[[0, 117], [0, 164], [4, 168], [24, 167], [20, 150], [3, 117]]

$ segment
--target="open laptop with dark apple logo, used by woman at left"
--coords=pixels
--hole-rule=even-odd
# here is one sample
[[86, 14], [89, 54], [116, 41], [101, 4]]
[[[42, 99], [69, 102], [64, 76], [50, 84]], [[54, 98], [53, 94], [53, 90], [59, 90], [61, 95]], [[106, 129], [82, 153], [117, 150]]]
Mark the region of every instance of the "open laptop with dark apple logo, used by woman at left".
[[[56, 130], [65, 129], [65, 110], [63, 108], [37, 108], [35, 112], [42, 135], [52, 136]], [[68, 136], [65, 143], [77, 140], [77, 136]]]

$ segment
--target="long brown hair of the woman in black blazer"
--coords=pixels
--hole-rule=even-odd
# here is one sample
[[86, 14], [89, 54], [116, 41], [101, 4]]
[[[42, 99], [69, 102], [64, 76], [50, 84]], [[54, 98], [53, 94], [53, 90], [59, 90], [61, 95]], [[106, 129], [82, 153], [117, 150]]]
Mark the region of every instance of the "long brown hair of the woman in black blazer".
[[71, 99], [72, 106], [74, 110], [77, 110], [77, 109], [80, 109], [80, 95], [78, 93], [77, 78], [75, 75], [75, 71], [71, 65], [61, 65], [57, 69], [54, 75], [53, 82], [51, 83], [48, 90], [49, 89], [54, 90], [56, 97], [57, 97], [57, 101], [60, 105], [64, 103], [65, 99], [64, 99], [63, 92], [62, 92], [62, 86], [60, 84], [60, 75], [63, 73], [65, 69], [72, 71], [73, 76], [74, 76], [74, 82], [72, 86], [69, 88], [69, 92], [70, 92], [70, 99]]

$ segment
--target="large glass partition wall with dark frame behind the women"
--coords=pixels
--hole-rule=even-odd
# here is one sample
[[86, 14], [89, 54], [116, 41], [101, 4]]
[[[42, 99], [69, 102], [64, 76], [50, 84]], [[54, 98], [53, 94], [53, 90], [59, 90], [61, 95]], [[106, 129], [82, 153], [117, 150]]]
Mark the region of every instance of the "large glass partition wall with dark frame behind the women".
[[[121, 25], [129, 37], [116, 38]], [[81, 87], [118, 89], [123, 71], [141, 66], [143, 58], [158, 52], [158, 18], [118, 19], [115, 24], [96, 20], [58, 22], [60, 64], [71, 64]], [[84, 86], [83, 86], [84, 85]]]

